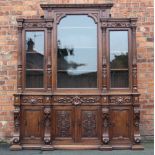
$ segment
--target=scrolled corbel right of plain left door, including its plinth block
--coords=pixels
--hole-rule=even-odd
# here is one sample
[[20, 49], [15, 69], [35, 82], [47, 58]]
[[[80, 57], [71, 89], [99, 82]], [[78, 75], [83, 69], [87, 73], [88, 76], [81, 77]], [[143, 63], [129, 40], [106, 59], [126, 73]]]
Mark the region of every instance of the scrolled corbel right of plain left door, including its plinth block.
[[51, 140], [51, 108], [45, 107], [44, 108], [44, 144], [45, 146], [42, 147], [42, 150], [50, 149], [53, 150], [53, 147], [51, 146], [52, 140]]

